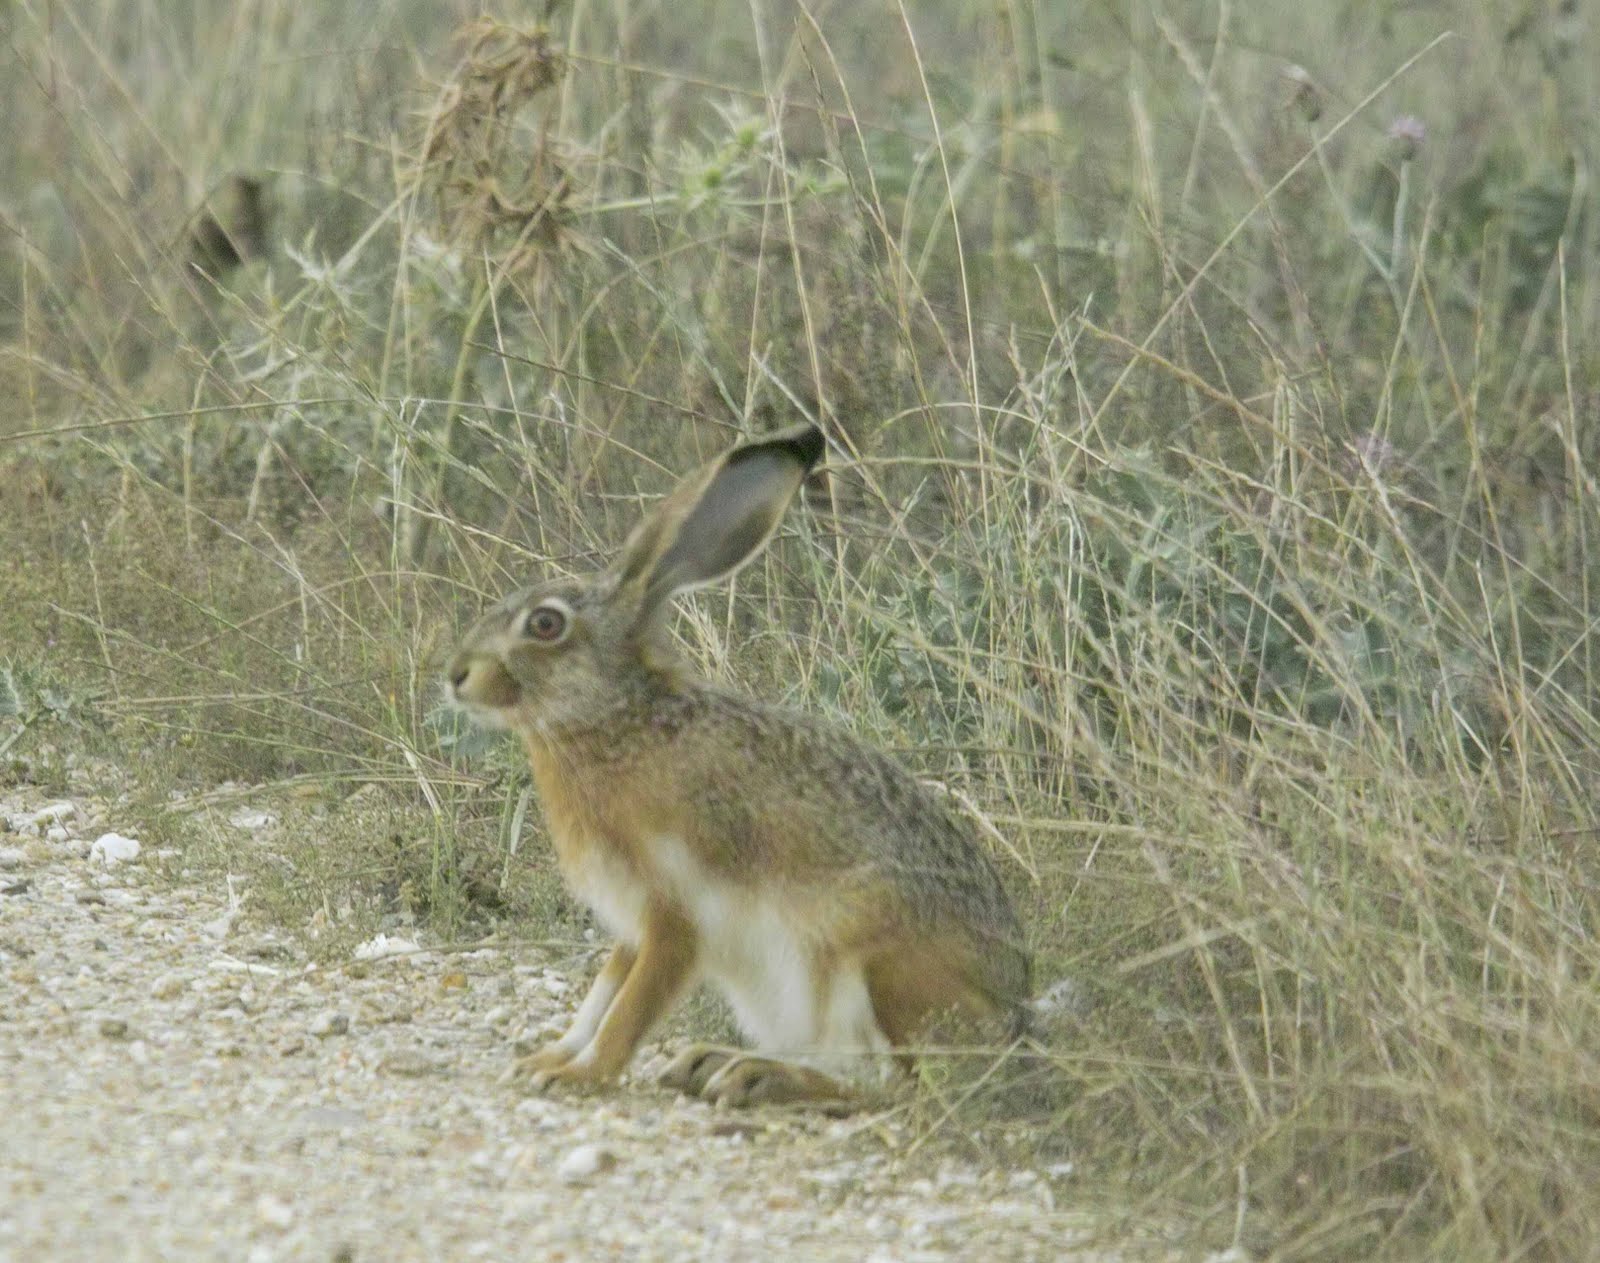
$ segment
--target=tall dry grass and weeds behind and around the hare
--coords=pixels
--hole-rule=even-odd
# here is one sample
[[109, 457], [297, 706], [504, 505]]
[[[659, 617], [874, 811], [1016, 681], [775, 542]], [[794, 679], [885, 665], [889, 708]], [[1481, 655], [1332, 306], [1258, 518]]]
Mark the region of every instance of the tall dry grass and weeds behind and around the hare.
[[326, 951], [581, 943], [437, 666], [803, 413], [826, 485], [685, 645], [960, 791], [1083, 999], [1021, 1090], [931, 1063], [925, 1135], [1021, 1117], [1195, 1249], [1586, 1253], [1566, 10], [22, 0], [8, 775], [110, 754], [195, 855], [170, 791], [275, 788], [315, 840], [250, 861], [254, 906]]

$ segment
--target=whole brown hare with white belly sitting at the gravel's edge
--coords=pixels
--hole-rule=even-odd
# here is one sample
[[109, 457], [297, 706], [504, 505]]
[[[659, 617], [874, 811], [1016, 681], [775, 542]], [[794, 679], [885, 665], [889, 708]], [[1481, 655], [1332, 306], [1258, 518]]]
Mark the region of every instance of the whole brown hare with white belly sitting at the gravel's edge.
[[699, 980], [760, 1050], [698, 1045], [661, 1082], [712, 1101], [850, 1101], [946, 1008], [1021, 1029], [1029, 957], [995, 869], [946, 807], [848, 732], [696, 679], [678, 592], [731, 575], [822, 456], [803, 426], [686, 479], [589, 581], [506, 597], [448, 668], [514, 730], [563, 879], [616, 936], [571, 1028], [510, 1077], [602, 1085]]

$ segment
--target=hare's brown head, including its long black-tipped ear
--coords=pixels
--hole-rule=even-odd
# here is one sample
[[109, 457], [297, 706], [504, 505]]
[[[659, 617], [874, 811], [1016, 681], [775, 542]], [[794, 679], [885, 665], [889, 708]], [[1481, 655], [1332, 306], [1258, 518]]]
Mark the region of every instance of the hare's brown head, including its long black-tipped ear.
[[667, 603], [760, 552], [822, 450], [814, 426], [736, 447], [656, 504], [600, 575], [506, 597], [451, 660], [451, 700], [539, 733], [598, 724], [659, 688], [672, 669]]

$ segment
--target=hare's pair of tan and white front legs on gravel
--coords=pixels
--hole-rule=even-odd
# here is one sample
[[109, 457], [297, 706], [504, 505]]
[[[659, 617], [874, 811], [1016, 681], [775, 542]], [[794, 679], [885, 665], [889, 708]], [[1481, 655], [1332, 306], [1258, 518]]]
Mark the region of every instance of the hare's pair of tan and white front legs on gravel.
[[514, 1068], [515, 1076], [536, 1089], [555, 1082], [587, 1087], [613, 1082], [650, 1028], [683, 994], [698, 954], [699, 938], [688, 917], [667, 904], [651, 904], [638, 948], [619, 944], [611, 952], [573, 1028], [523, 1058]]

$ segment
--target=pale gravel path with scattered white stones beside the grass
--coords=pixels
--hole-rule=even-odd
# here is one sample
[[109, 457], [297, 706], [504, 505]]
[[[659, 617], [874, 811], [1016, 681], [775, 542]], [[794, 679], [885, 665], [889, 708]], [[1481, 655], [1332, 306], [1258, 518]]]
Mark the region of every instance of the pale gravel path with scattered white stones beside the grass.
[[114, 815], [0, 788], [5, 1263], [1107, 1257], [1067, 1172], [896, 1162], [893, 1121], [520, 1095], [510, 1039], [581, 980], [384, 940], [317, 968]]

